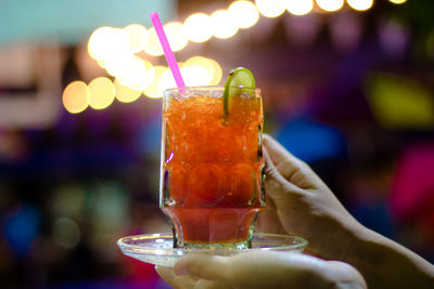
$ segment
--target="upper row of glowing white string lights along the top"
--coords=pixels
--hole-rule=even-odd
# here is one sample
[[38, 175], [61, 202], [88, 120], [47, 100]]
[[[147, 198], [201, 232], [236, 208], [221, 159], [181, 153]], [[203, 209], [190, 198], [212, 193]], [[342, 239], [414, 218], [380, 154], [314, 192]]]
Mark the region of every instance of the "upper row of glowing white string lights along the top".
[[[390, 0], [400, 4], [406, 0]], [[316, 0], [319, 8], [327, 12], [342, 9], [344, 0]], [[347, 0], [349, 6], [365, 11], [372, 6], [373, 0]], [[256, 5], [255, 5], [256, 4]], [[182, 50], [190, 41], [205, 42], [214, 36], [226, 39], [234, 36], [238, 28], [254, 26], [259, 13], [266, 17], [277, 17], [284, 10], [293, 15], [305, 15], [312, 11], [314, 0], [255, 0], [255, 4], [246, 0], [232, 2], [228, 10], [215, 11], [210, 16], [194, 13], [184, 23], [170, 22], [164, 27], [174, 51]], [[115, 54], [137, 53], [143, 50], [152, 56], [163, 55], [163, 49], [153, 27], [146, 29], [140, 24], [131, 24], [124, 29], [100, 27], [89, 38], [88, 51], [101, 66]], [[117, 56], [118, 57], [118, 56]]]

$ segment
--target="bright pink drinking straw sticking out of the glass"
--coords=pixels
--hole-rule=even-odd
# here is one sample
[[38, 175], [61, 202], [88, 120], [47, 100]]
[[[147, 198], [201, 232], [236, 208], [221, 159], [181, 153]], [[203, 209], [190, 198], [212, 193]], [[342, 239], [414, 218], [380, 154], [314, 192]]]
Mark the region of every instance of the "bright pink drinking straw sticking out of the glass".
[[175, 81], [178, 88], [184, 88], [181, 71], [179, 71], [178, 63], [175, 58], [174, 51], [170, 49], [169, 41], [167, 41], [166, 34], [164, 32], [162, 22], [159, 21], [158, 14], [153, 12], [150, 14], [152, 24], [154, 25], [155, 32], [158, 36], [159, 43], [163, 47], [164, 55], [166, 56], [167, 64], [170, 67], [171, 74], [174, 75]]

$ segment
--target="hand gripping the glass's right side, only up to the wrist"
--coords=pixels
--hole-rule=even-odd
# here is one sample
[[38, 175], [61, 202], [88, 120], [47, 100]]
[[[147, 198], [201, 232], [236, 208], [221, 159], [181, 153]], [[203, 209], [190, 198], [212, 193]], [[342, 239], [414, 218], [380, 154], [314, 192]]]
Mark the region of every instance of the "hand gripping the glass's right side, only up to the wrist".
[[304, 237], [307, 250], [326, 259], [345, 260], [362, 226], [345, 210], [308, 165], [264, 134], [267, 207], [256, 227]]

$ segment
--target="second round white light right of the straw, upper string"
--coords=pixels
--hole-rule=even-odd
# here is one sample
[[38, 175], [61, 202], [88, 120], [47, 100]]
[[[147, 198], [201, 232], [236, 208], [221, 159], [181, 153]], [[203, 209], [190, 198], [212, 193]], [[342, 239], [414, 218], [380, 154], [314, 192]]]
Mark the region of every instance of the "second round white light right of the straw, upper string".
[[209, 16], [204, 13], [190, 15], [183, 23], [183, 31], [191, 41], [205, 42], [213, 36]]

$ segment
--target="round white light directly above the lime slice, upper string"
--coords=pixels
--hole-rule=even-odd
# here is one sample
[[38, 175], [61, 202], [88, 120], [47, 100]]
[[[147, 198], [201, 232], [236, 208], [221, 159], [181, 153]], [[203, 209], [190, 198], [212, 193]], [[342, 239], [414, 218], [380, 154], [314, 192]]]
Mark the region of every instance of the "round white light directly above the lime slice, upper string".
[[229, 5], [228, 11], [232, 13], [233, 21], [239, 28], [248, 28], [259, 19], [259, 12], [250, 1], [235, 1]]

